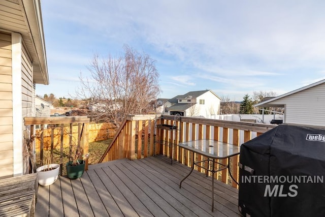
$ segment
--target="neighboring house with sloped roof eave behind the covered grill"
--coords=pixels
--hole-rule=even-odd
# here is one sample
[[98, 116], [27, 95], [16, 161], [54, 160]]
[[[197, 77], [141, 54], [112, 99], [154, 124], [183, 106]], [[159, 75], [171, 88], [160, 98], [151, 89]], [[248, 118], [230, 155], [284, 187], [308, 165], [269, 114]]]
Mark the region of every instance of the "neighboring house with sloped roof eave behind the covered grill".
[[284, 123], [325, 126], [325, 80], [287, 92], [254, 106], [284, 108]]

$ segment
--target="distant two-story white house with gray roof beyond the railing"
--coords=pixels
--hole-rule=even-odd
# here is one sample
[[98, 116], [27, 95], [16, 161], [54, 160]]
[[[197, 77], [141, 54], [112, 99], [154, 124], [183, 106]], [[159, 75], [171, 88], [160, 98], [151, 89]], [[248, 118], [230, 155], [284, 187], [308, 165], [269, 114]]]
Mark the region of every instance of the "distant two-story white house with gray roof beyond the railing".
[[219, 114], [220, 101], [212, 90], [190, 91], [168, 100], [164, 104], [164, 113], [211, 118]]

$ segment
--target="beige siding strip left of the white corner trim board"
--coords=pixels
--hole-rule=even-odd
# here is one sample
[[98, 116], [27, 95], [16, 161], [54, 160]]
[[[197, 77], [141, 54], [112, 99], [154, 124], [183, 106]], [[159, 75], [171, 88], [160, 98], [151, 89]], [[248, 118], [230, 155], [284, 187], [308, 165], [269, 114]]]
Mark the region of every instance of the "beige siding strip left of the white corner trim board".
[[13, 174], [11, 35], [0, 32], [0, 177]]

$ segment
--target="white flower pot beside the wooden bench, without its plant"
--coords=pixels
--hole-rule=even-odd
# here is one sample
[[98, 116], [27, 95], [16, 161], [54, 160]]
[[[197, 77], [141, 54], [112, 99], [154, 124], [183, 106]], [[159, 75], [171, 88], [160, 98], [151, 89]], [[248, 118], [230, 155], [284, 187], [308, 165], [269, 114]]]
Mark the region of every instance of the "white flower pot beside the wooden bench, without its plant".
[[53, 184], [57, 177], [59, 176], [60, 165], [59, 164], [50, 164], [50, 168], [55, 168], [49, 171], [42, 171], [47, 168], [47, 165], [41, 166], [36, 169], [39, 178], [39, 184], [47, 186]]

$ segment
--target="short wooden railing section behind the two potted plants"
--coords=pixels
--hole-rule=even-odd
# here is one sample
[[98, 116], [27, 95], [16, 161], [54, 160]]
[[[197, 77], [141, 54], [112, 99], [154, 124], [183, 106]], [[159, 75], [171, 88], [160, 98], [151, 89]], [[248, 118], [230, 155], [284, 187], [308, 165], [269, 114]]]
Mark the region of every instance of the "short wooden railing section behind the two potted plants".
[[[25, 117], [24, 124], [30, 129], [30, 136], [36, 134], [36, 125], [40, 125], [39, 130], [37, 130], [40, 134], [37, 137], [40, 139], [39, 165], [43, 164], [44, 150], [49, 150], [51, 156], [53, 156], [54, 151], [59, 150], [60, 175], [62, 175], [63, 157], [67, 155], [67, 153], [63, 153], [63, 147], [75, 142], [79, 148], [82, 148], [82, 154], [88, 152], [89, 122], [90, 119], [87, 116]], [[46, 125], [50, 129], [50, 140], [44, 139]], [[86, 160], [85, 168], [88, 169], [88, 160]]]

